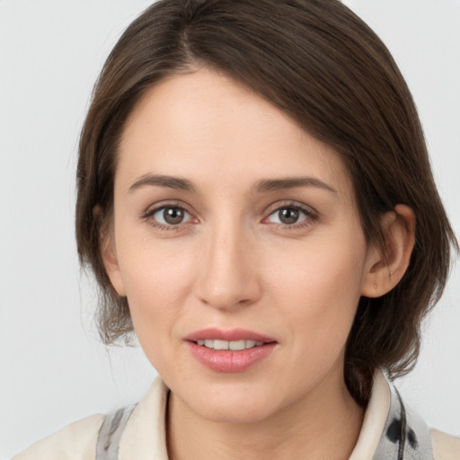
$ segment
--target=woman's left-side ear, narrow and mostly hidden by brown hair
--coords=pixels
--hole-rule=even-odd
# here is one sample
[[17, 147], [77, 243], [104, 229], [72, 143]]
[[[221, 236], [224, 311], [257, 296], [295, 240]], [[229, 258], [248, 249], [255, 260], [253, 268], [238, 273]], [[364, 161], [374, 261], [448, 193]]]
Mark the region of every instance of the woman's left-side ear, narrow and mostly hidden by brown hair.
[[126, 296], [125, 285], [119, 270], [119, 261], [111, 219], [103, 216], [103, 212], [100, 207], [93, 209], [93, 215], [95, 218], [102, 221], [101, 226], [99, 227], [99, 244], [101, 247], [102, 262], [107, 276], [111, 280], [112, 288], [114, 288], [117, 294], [122, 297]]

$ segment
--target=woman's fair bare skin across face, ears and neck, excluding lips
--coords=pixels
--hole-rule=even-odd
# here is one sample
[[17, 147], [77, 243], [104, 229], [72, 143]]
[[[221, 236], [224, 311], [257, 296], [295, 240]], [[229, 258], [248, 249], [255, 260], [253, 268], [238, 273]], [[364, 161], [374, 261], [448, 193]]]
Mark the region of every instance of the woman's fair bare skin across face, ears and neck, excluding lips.
[[[260, 186], [299, 177], [309, 179]], [[162, 207], [183, 208], [183, 220], [165, 224]], [[280, 219], [296, 209], [295, 223]], [[146, 93], [119, 146], [103, 257], [172, 391], [173, 460], [348, 458], [363, 417], [343, 379], [358, 299], [393, 288], [413, 244], [409, 208], [384, 224], [385, 263], [332, 147], [225, 75], [173, 75]], [[220, 373], [183, 340], [208, 327], [277, 344], [244, 372]]]

